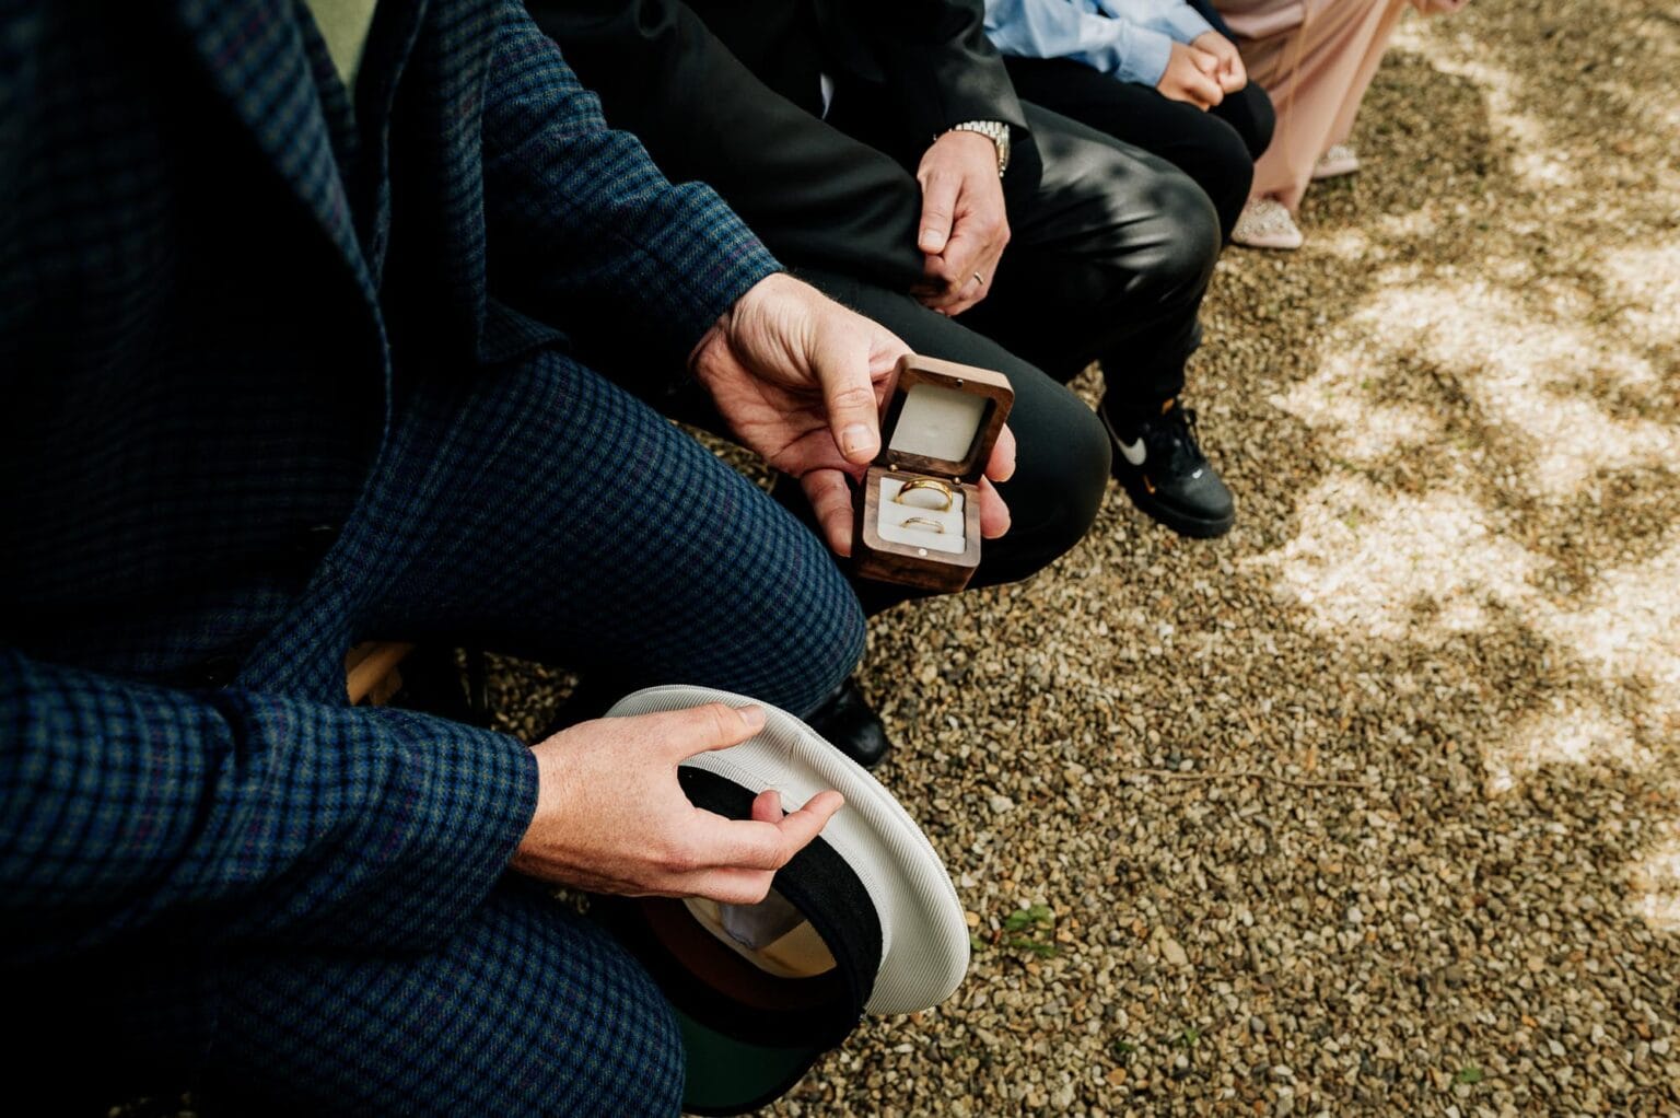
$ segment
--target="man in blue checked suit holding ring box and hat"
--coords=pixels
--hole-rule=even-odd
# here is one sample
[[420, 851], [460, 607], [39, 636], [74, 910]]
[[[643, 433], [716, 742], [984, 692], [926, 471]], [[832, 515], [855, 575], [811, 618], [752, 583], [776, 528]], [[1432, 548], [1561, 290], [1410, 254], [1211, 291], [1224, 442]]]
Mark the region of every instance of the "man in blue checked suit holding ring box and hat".
[[665, 1004], [531, 878], [751, 899], [838, 797], [724, 822], [675, 763], [751, 713], [528, 746], [346, 706], [344, 651], [810, 709], [860, 654], [853, 593], [637, 395], [692, 378], [822, 493], [900, 351], [608, 131], [514, 0], [0, 3], [17, 1089], [672, 1113]]

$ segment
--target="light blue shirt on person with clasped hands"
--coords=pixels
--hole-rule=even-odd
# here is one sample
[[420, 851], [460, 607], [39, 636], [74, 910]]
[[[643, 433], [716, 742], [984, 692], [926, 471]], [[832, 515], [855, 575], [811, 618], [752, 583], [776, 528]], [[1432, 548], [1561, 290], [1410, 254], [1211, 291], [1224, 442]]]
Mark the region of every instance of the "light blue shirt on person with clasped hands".
[[986, 0], [986, 35], [1003, 54], [1074, 59], [1154, 86], [1174, 42], [1213, 27], [1184, 0]]

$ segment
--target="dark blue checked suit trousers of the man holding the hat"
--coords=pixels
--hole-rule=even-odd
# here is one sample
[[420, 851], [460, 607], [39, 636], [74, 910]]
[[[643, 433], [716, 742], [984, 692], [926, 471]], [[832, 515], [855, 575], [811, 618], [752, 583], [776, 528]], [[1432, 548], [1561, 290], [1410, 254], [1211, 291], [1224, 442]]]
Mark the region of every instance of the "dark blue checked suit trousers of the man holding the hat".
[[[475, 641], [798, 713], [852, 671], [864, 617], [827, 548], [571, 358], [538, 351], [396, 398], [368, 488], [237, 688], [343, 704], [343, 652], [370, 637]], [[57, 963], [18, 1012], [44, 1049], [92, 1054], [74, 1088], [102, 1105], [185, 1084], [205, 1113], [677, 1111], [664, 999], [531, 883], [506, 878], [413, 950], [232, 926], [166, 925]], [[74, 1094], [39, 1086], [42, 1113]]]

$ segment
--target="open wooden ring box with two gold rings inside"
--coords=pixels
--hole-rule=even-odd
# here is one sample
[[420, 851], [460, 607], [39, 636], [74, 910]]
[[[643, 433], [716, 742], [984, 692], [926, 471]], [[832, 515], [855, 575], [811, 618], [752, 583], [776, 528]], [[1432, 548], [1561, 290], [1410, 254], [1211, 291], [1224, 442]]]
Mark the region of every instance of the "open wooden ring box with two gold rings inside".
[[968, 585], [979, 565], [979, 479], [1013, 402], [1003, 373], [899, 360], [880, 454], [857, 496], [858, 575], [924, 590]]

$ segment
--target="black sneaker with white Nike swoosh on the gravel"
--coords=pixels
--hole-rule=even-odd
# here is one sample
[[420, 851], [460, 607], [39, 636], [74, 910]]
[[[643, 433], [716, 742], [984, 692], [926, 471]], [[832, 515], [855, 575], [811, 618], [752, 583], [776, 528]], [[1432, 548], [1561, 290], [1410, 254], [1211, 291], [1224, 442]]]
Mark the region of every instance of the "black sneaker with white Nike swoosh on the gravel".
[[1119, 424], [1097, 409], [1114, 444], [1114, 476], [1132, 504], [1181, 536], [1223, 536], [1236, 519], [1236, 501], [1196, 444], [1196, 412], [1161, 405], [1159, 415]]

